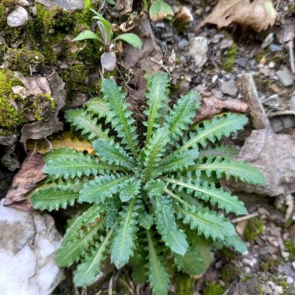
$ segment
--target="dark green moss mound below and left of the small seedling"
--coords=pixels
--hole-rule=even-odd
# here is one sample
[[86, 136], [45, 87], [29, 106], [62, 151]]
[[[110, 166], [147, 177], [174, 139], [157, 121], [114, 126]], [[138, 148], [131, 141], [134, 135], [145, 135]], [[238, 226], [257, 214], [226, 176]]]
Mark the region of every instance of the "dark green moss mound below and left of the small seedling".
[[70, 89], [87, 91], [88, 88], [85, 86], [87, 74], [87, 67], [83, 63], [78, 63], [70, 65], [60, 74], [60, 77]]

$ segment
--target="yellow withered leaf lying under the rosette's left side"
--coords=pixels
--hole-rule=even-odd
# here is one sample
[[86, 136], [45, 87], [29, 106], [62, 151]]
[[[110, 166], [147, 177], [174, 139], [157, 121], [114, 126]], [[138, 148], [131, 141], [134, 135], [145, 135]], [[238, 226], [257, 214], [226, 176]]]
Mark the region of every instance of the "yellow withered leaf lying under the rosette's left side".
[[[74, 149], [80, 150], [80, 151], [86, 150], [89, 153], [92, 153], [94, 151], [92, 144], [90, 142], [88, 142], [85, 139], [80, 140], [77, 136], [74, 136], [71, 132], [62, 132], [60, 135], [55, 136], [49, 140], [52, 144], [52, 148], [54, 148], [54, 149], [74, 148]], [[44, 139], [39, 139], [37, 141], [28, 140], [27, 149], [28, 150], [35, 149], [35, 152], [39, 152], [43, 155], [50, 150], [48, 142]]]

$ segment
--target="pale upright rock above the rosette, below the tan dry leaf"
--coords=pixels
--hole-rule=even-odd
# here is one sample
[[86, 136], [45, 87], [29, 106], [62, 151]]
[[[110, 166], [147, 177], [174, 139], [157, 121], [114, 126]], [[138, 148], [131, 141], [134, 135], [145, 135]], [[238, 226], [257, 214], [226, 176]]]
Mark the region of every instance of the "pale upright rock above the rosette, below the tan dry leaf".
[[194, 37], [189, 40], [188, 52], [195, 60], [196, 68], [202, 67], [207, 61], [207, 39], [205, 37]]

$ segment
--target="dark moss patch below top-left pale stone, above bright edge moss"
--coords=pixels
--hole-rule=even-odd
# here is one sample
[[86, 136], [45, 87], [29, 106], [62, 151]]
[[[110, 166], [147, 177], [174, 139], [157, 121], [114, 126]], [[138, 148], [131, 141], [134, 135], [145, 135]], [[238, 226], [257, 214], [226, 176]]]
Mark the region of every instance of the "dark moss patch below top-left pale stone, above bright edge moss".
[[30, 66], [44, 63], [45, 58], [39, 51], [9, 48], [7, 51], [7, 61], [10, 70], [20, 71], [24, 75], [29, 75]]

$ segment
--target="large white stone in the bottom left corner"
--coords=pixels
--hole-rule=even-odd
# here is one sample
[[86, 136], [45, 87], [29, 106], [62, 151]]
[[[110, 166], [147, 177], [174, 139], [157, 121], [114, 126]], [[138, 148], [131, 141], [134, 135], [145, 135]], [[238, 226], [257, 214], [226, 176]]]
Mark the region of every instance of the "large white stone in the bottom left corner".
[[[53, 218], [0, 204], [0, 294], [50, 295], [63, 278], [55, 263], [61, 236]], [[32, 243], [34, 238], [34, 243]]]

